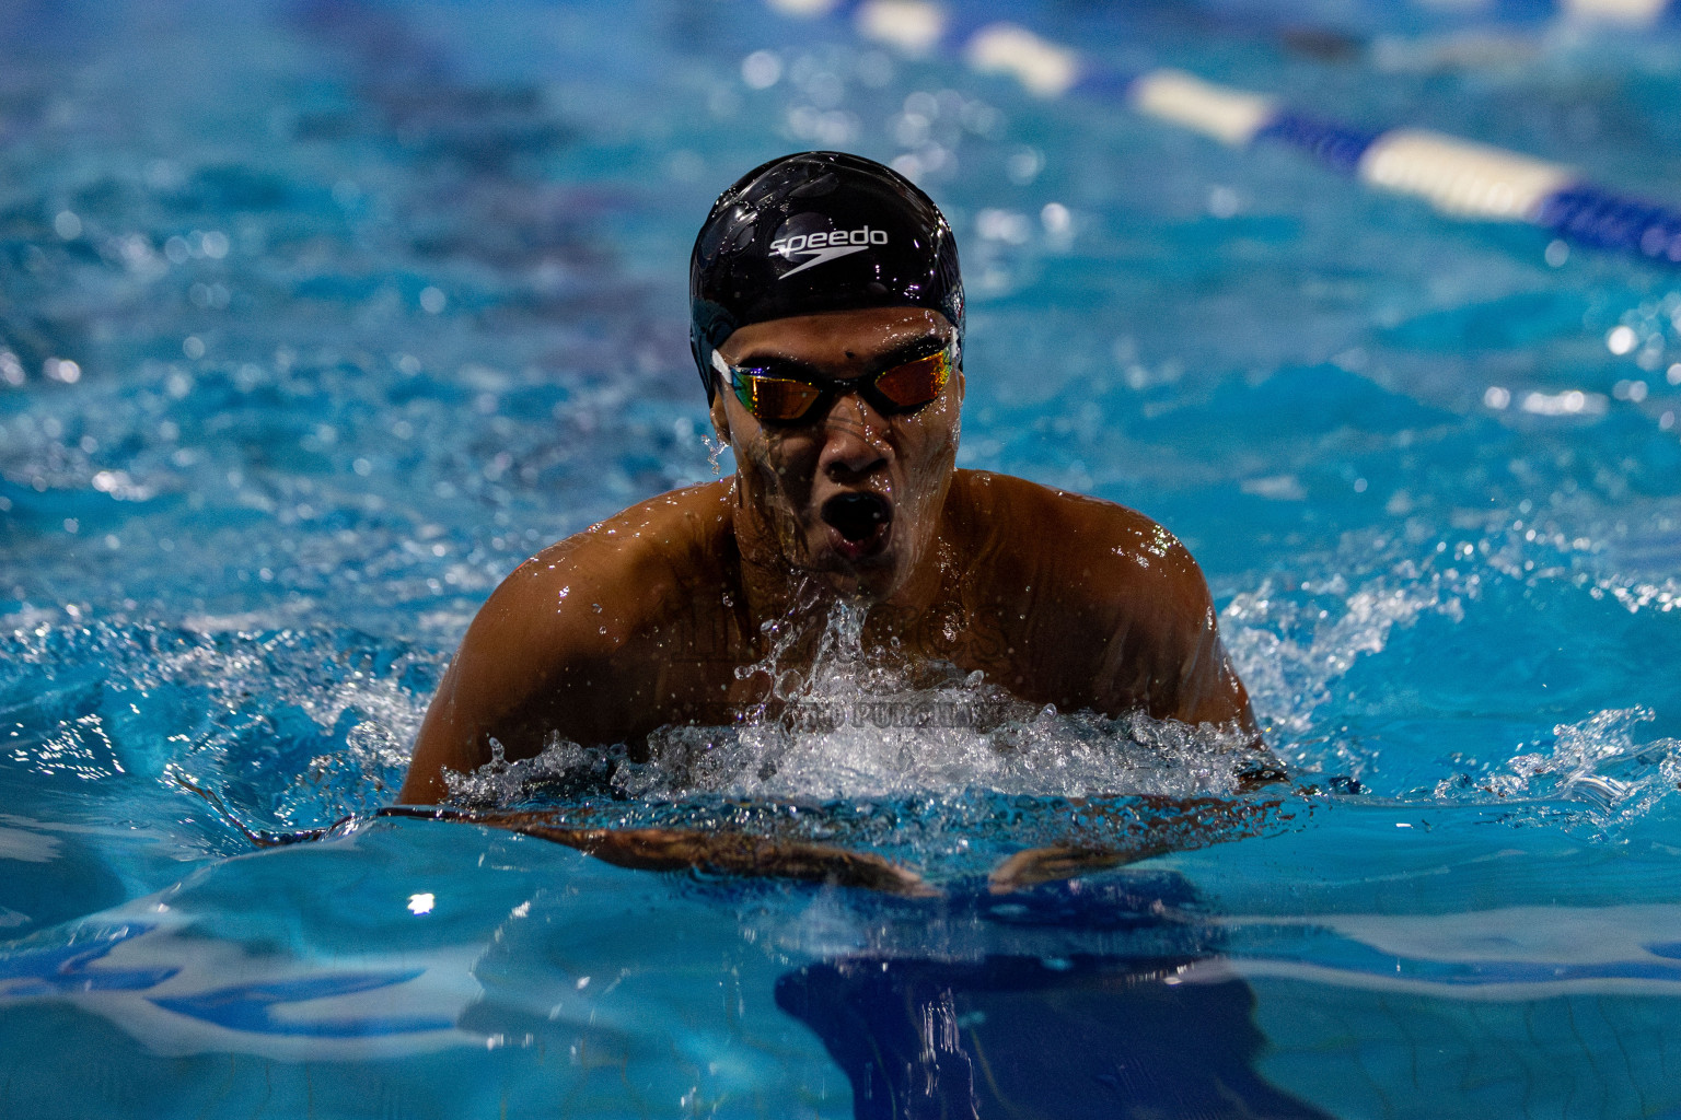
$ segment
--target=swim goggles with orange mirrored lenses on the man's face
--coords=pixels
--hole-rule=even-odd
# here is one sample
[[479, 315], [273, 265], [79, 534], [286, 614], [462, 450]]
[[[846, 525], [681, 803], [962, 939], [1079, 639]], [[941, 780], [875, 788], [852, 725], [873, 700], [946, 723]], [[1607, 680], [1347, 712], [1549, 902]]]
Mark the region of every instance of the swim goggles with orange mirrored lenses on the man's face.
[[800, 423], [829, 411], [837, 396], [857, 393], [883, 416], [904, 416], [935, 401], [958, 364], [956, 339], [925, 358], [881, 373], [830, 381], [772, 359], [761, 366], [731, 366], [713, 351], [713, 369], [735, 390], [741, 408], [768, 423]]

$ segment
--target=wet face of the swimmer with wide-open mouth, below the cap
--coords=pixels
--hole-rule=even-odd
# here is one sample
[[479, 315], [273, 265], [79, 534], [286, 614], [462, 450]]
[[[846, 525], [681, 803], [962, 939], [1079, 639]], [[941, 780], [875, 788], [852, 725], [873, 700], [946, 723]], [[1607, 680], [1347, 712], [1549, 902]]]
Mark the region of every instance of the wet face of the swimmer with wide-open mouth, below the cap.
[[[804, 371], [814, 381], [874, 376], [955, 338], [938, 311], [872, 307], [738, 329], [718, 348], [731, 366]], [[963, 373], [933, 401], [883, 415], [857, 393], [797, 423], [760, 421], [719, 385], [713, 427], [735, 450], [743, 536], [773, 542], [795, 571], [842, 594], [888, 599], [928, 556], [956, 463]]]

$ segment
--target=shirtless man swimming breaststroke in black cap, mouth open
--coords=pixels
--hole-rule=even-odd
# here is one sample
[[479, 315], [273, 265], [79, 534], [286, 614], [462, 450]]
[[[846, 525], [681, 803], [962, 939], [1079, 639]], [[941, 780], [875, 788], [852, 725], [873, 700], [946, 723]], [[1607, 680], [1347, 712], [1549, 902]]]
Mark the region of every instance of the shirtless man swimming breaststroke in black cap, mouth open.
[[[1032, 704], [1259, 741], [1207, 584], [1170, 532], [1113, 502], [956, 470], [963, 287], [951, 228], [923, 191], [851, 154], [767, 163], [713, 207], [689, 296], [735, 475], [649, 499], [516, 569], [437, 690], [403, 803], [435, 804], [447, 771], [556, 737], [635, 754], [662, 725], [730, 724], [763, 700], [763, 675], [736, 670], [765, 658], [767, 623], [820, 623], [837, 599], [864, 610], [864, 648], [891, 648], [913, 677], [980, 670]], [[918, 883], [815, 845], [511, 826], [632, 866]], [[995, 883], [1125, 858], [1041, 850]]]

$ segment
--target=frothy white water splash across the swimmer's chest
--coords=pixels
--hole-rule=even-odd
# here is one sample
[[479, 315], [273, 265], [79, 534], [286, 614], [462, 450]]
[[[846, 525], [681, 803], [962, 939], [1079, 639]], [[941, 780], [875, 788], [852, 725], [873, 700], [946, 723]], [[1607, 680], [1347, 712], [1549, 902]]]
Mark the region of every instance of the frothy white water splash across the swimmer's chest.
[[[822, 804], [941, 798], [1236, 796], [1262, 759], [1236, 729], [1141, 714], [1059, 712], [1017, 700], [982, 673], [946, 667], [928, 682], [894, 650], [866, 650], [866, 611], [834, 603], [820, 630], [798, 608], [767, 626], [768, 653], [738, 670], [763, 699], [725, 727], [664, 727], [647, 757], [556, 741], [536, 759], [451, 779], [456, 799], [511, 804], [533, 786], [619, 799], [753, 798]], [[809, 618], [809, 616], [807, 616]], [[807, 667], [798, 652], [815, 645]]]

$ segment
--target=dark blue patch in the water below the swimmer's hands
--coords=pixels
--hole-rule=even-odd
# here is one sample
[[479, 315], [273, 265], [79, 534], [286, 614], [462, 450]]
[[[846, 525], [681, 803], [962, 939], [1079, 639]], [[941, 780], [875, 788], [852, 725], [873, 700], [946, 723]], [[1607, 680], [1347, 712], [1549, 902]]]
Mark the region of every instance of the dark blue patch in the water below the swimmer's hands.
[[[1083, 892], [1074, 883], [978, 895], [965, 917], [995, 932], [970, 944], [1002, 952], [822, 960], [783, 974], [777, 1006], [846, 1071], [857, 1120], [1323, 1120], [1252, 1068], [1266, 1039], [1251, 987], [1229, 976], [1180, 977], [1217, 954], [1199, 949], [1204, 939], [1182, 924], [1188, 885], [1177, 875], [1150, 878], [1165, 893], [1148, 900], [1125, 887]], [[946, 915], [951, 930], [967, 924], [951, 922], [956, 912]], [[1121, 935], [1138, 952], [1022, 952], [1035, 947], [1034, 927], [1059, 929], [1062, 940], [1071, 924], [1086, 927], [1078, 940], [1088, 945]]]

